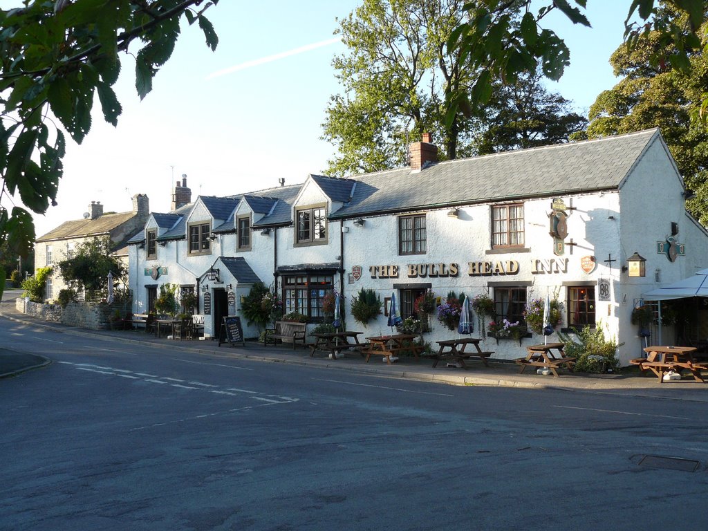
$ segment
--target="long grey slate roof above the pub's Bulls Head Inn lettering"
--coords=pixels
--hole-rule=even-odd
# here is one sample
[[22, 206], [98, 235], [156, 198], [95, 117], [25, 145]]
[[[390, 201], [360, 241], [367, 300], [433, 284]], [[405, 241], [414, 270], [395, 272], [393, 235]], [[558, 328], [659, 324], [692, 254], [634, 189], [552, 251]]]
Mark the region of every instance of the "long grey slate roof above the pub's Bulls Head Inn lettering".
[[570, 144], [520, 149], [352, 177], [353, 200], [331, 219], [427, 207], [471, 205], [617, 189], [658, 129]]

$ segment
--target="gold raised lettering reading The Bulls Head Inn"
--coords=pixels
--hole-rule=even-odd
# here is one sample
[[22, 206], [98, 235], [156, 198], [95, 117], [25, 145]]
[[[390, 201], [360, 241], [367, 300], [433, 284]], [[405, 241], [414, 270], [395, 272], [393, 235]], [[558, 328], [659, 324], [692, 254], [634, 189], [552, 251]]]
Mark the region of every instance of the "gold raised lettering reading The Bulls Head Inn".
[[[553, 273], [568, 273], [568, 258], [551, 258], [550, 260], [531, 261], [532, 275], [548, 275]], [[403, 267], [395, 264], [371, 265], [371, 278], [438, 278], [457, 277], [459, 264], [451, 263], [409, 263]], [[354, 273], [354, 271], [353, 271]], [[358, 270], [359, 275], [361, 271]], [[500, 260], [495, 262], [467, 262], [467, 275], [471, 277], [488, 277], [500, 275], [518, 275], [519, 263], [515, 260]]]

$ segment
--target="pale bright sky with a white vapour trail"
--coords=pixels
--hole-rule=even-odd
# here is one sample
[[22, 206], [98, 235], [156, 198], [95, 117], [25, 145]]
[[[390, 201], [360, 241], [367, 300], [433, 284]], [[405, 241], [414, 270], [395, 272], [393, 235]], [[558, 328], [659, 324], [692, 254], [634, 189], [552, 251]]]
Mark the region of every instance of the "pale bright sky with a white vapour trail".
[[[142, 102], [134, 64], [122, 57], [114, 87], [123, 106], [118, 127], [103, 121], [96, 98], [91, 132], [81, 145], [67, 142], [57, 206], [34, 215], [37, 236], [81, 219], [91, 201], [105, 212], [127, 212], [132, 195], [144, 193], [152, 212], [169, 212], [183, 174], [195, 199], [275, 187], [279, 178], [302, 183], [309, 173], [322, 173], [334, 149], [320, 139], [321, 124], [330, 96], [341, 90], [331, 62], [346, 51], [333, 35], [336, 19], [360, 3], [221, 0], [207, 10], [217, 50], [207, 47], [196, 25], [184, 27]], [[571, 49], [571, 67], [549, 89], [581, 112], [617, 82], [607, 61], [622, 42], [629, 3], [590, 0], [592, 29], [562, 16], [547, 23]]]

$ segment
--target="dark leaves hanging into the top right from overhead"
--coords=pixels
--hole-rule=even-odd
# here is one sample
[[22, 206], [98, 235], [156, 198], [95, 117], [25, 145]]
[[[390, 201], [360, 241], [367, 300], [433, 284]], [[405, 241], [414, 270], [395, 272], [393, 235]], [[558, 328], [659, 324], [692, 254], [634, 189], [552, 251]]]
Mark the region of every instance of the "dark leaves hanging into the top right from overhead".
[[[469, 93], [450, 93], [447, 99], [447, 119], [451, 123], [459, 109], [478, 109], [489, 101], [493, 83], [503, 81], [513, 84], [520, 74], [536, 72], [540, 67], [544, 76], [559, 79], [570, 64], [569, 49], [550, 28], [544, 28], [544, 18], [559, 10], [575, 24], [590, 26], [590, 21], [581, 9], [587, 0], [554, 0], [539, 6], [532, 0], [484, 0], [470, 2], [465, 6], [466, 18], [450, 34], [449, 50], [459, 52], [467, 59], [467, 67], [481, 72]], [[647, 38], [651, 30], [660, 35], [660, 46], [649, 57], [652, 65], [666, 65], [671, 69], [688, 72], [692, 50], [701, 47], [708, 37], [700, 32], [706, 20], [705, 2], [702, 0], [664, 0], [664, 4], [687, 13], [687, 30], [675, 19], [657, 7], [657, 0], [632, 0], [625, 21], [625, 39], [630, 47], [636, 47]], [[575, 4], [575, 5], [573, 5]], [[643, 23], [634, 23], [639, 16]], [[520, 18], [520, 23], [514, 23]], [[708, 95], [702, 102], [704, 115], [708, 116]], [[705, 120], [705, 117], [704, 117]]]

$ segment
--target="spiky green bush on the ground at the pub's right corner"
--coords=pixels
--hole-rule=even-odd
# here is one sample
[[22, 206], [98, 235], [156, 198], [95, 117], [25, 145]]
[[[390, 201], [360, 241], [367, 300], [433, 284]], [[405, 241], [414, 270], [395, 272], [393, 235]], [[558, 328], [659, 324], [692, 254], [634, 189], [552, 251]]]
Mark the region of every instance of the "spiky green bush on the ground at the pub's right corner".
[[565, 353], [569, 358], [576, 358], [576, 372], [603, 372], [603, 368], [617, 369], [617, 348], [624, 345], [617, 345], [615, 338], [605, 339], [602, 324], [599, 323], [596, 329], [591, 329], [586, 325], [581, 330], [573, 329], [577, 341], [573, 341], [570, 336], [559, 332], [558, 336], [565, 345]]

